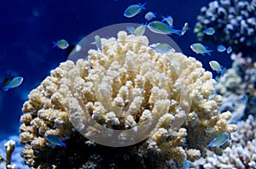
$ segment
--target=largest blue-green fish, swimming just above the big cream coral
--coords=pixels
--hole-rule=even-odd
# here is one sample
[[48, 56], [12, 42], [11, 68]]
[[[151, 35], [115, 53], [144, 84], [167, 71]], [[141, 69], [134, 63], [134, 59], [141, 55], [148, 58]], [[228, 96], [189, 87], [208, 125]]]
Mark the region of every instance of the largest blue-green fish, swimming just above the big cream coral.
[[181, 30], [175, 30], [172, 26], [165, 24], [161, 21], [153, 21], [148, 24], [148, 29], [154, 33], [172, 35], [172, 33], [181, 36]]

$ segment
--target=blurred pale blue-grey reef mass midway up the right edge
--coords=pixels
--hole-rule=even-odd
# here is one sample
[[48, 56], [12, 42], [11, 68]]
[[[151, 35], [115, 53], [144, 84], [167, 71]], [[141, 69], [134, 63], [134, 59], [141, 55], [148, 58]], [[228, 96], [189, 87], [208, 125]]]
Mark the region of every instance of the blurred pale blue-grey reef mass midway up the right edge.
[[218, 79], [216, 91], [223, 97], [219, 110], [232, 112], [233, 123], [246, 120], [248, 115], [256, 116], [256, 62], [241, 54], [232, 54], [231, 59], [232, 68]]

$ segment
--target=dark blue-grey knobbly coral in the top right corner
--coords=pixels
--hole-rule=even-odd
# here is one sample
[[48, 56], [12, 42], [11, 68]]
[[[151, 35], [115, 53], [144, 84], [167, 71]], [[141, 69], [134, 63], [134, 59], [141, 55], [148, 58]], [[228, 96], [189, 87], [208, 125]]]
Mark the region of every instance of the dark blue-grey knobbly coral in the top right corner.
[[[200, 41], [231, 46], [233, 51], [244, 57], [256, 59], [256, 1], [219, 0], [201, 8], [197, 17], [195, 33]], [[213, 27], [215, 34], [208, 36], [202, 31]]]

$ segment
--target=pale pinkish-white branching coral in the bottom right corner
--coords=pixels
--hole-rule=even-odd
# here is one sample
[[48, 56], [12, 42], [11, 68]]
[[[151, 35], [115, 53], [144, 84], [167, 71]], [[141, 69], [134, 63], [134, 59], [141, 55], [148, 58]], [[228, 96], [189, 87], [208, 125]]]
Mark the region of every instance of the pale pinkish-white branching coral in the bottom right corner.
[[237, 123], [237, 132], [231, 134], [231, 146], [223, 156], [209, 155], [196, 161], [192, 168], [256, 168], [256, 121], [249, 115], [247, 121]]

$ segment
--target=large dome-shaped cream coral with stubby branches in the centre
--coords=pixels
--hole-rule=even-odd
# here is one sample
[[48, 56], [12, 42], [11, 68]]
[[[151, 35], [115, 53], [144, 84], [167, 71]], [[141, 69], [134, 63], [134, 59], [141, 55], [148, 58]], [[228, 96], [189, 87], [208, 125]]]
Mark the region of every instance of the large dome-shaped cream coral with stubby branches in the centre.
[[[230, 112], [218, 113], [216, 82], [199, 61], [173, 50], [160, 54], [147, 37], [125, 31], [102, 38], [102, 47], [91, 49], [88, 60], [61, 63], [29, 94], [20, 117], [26, 165], [181, 168], [183, 161], [206, 157], [206, 145], [219, 133], [236, 131], [227, 124]], [[67, 149], [50, 144], [48, 134]], [[119, 146], [98, 144], [97, 136]], [[133, 143], [137, 136], [147, 137]], [[121, 146], [127, 142], [133, 144]], [[229, 144], [211, 150], [221, 155]]]

